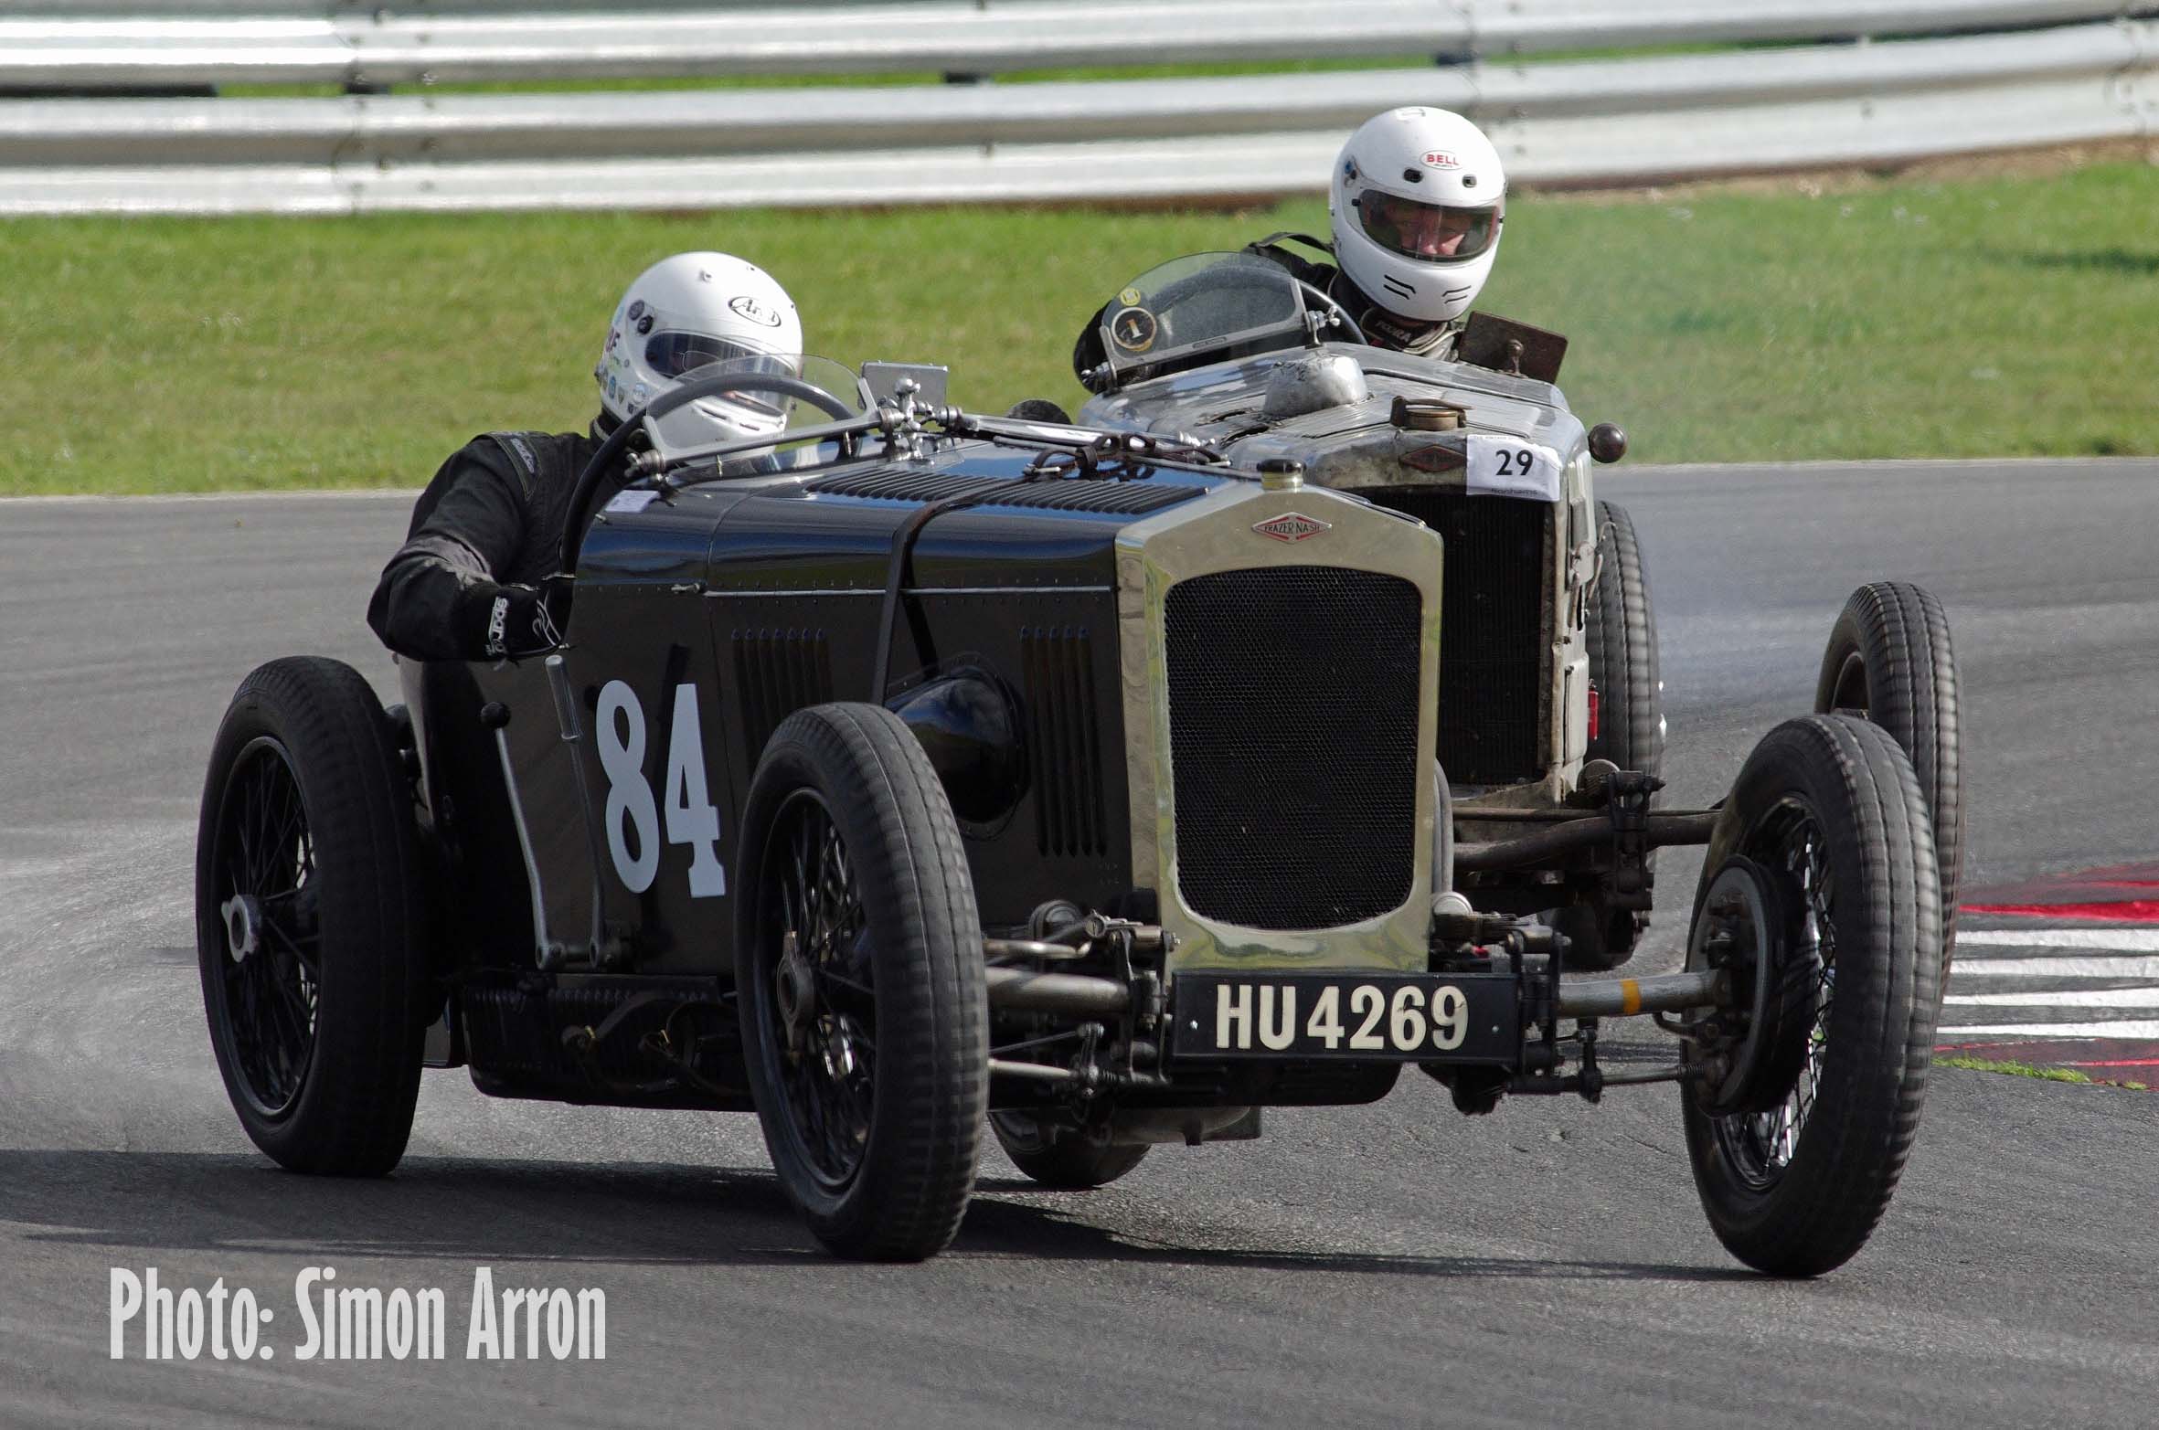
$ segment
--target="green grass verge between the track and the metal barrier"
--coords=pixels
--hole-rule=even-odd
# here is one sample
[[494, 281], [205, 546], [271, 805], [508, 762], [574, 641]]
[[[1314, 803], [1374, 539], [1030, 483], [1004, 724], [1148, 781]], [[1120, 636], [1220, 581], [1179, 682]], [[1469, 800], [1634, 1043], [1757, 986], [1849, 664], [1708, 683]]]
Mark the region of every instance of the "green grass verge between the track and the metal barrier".
[[[2159, 453], [2159, 168], [1779, 192], [1520, 194], [1483, 306], [1572, 334], [1641, 462]], [[1075, 403], [1080, 321], [1257, 211], [887, 209], [13, 220], [0, 494], [417, 485], [494, 427], [579, 427], [622, 285], [766, 265], [810, 349]]]

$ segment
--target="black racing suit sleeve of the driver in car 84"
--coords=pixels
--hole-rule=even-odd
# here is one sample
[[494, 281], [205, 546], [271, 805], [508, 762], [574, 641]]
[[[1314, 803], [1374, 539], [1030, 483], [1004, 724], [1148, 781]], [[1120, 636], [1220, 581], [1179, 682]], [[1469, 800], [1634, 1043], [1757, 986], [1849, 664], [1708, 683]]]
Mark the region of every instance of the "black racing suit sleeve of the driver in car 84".
[[525, 548], [529, 503], [518, 472], [488, 438], [445, 462], [367, 602], [367, 623], [382, 643], [417, 660], [486, 660], [494, 600], [514, 595], [525, 604], [529, 595], [501, 582]]

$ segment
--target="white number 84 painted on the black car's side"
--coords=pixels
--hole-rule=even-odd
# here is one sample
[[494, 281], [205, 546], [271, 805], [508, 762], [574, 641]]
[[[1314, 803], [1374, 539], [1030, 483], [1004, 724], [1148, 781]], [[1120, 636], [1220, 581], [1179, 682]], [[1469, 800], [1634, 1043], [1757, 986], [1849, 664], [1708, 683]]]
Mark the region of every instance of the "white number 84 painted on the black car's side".
[[648, 725], [643, 705], [628, 682], [600, 688], [600, 768], [607, 772], [607, 852], [615, 876], [630, 893], [652, 889], [661, 871], [661, 815], [667, 843], [689, 845], [689, 893], [710, 899], [728, 893], [728, 869], [719, 863], [719, 807], [704, 779], [704, 727], [697, 718], [697, 686], [674, 688], [674, 718], [667, 725], [667, 759], [661, 798], [646, 783]]

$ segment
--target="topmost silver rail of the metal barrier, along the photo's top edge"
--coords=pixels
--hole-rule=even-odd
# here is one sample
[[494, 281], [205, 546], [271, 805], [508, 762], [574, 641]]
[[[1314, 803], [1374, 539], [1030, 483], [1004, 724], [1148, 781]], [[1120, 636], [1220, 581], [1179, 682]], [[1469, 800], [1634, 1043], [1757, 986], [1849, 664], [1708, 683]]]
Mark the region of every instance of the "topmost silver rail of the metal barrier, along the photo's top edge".
[[[2112, 19], [2122, 0], [980, 0], [520, 11], [350, 6], [0, 19], [0, 88], [1004, 73], [1362, 54], [1939, 35]], [[1321, 17], [1323, 15], [1323, 17]]]

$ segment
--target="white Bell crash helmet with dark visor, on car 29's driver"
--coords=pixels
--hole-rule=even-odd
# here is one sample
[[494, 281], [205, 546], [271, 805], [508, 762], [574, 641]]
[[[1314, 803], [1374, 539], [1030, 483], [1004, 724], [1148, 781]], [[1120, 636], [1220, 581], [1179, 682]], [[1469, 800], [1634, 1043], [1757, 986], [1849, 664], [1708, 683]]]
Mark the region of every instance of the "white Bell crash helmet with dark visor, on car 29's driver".
[[1367, 298], [1406, 319], [1459, 317], [1498, 257], [1507, 175], [1477, 125], [1451, 110], [1367, 119], [1328, 194], [1334, 261]]

